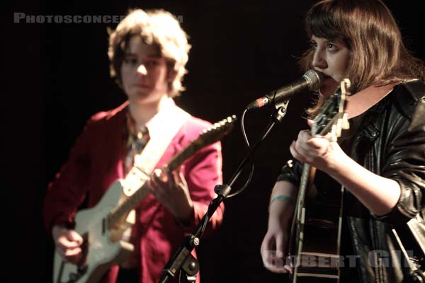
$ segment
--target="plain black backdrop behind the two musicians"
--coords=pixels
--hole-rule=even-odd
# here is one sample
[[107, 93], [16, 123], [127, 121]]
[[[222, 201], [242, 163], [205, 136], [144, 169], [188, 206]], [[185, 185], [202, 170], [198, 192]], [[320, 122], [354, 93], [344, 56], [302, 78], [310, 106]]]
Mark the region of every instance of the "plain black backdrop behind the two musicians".
[[[58, 1], [59, 2], [59, 1]], [[164, 8], [181, 16], [191, 36], [187, 91], [177, 100], [193, 115], [215, 122], [242, 113], [262, 93], [298, 79], [297, 57], [307, 47], [303, 16], [314, 1], [20, 1], [11, 6], [3, 29], [4, 227], [6, 268], [1, 278], [50, 282], [53, 246], [42, 227], [47, 183], [66, 161], [86, 120], [115, 108], [125, 95], [108, 74], [106, 27], [116, 23], [13, 23], [27, 15], [125, 15], [128, 8]], [[385, 1], [409, 47], [425, 59], [424, 8], [420, 1]], [[203, 282], [282, 282], [266, 271], [259, 247], [267, 225], [268, 197], [288, 146], [306, 127], [307, 93], [290, 101], [288, 115], [255, 154], [256, 171], [241, 195], [226, 201], [220, 231], [202, 239]], [[273, 110], [246, 117], [254, 141]], [[225, 181], [245, 149], [239, 124], [222, 139]], [[246, 176], [245, 176], [246, 177]], [[241, 182], [234, 188], [242, 185]]]

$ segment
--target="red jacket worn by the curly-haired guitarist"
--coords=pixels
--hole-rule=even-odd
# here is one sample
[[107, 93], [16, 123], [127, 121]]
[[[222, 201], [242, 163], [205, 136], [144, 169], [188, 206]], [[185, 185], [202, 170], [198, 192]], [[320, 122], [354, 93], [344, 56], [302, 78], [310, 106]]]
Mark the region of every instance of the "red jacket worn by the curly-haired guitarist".
[[[47, 190], [44, 219], [49, 233], [54, 225], [72, 225], [77, 208], [86, 197], [87, 206], [94, 207], [115, 180], [125, 177], [123, 156], [124, 143], [128, 137], [125, 126], [127, 105], [124, 103], [114, 110], [99, 112], [87, 122], [67, 163]], [[157, 168], [162, 167], [207, 127], [210, 127], [210, 123], [191, 116], [172, 139]], [[181, 228], [174, 216], [153, 195], [142, 200], [133, 227], [137, 229], [140, 239], [135, 250], [140, 254], [138, 264], [141, 282], [158, 282], [162, 268], [185, 233], [193, 231], [205, 214], [210, 200], [215, 197], [215, 185], [222, 184], [221, 170], [220, 142], [206, 146], [186, 161], [183, 175], [194, 207], [193, 221], [187, 229]], [[222, 222], [223, 212], [222, 204], [210, 219], [209, 230], [215, 229]], [[115, 282], [117, 274], [118, 267], [113, 267], [103, 282]]]

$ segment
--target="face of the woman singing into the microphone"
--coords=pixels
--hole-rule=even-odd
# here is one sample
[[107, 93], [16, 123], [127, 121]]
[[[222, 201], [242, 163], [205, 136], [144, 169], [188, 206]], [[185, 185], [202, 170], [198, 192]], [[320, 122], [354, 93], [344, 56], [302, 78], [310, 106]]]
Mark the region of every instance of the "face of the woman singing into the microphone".
[[346, 79], [351, 52], [341, 40], [331, 41], [313, 35], [311, 42], [314, 47], [313, 67], [324, 74], [319, 92], [322, 96], [329, 97], [335, 92], [339, 83]]

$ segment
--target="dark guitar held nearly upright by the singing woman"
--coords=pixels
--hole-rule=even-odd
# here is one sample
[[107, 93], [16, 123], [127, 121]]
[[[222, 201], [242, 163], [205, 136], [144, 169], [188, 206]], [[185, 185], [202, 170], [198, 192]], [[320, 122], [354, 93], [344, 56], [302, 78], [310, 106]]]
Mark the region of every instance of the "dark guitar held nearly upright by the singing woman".
[[[328, 135], [330, 141], [348, 129], [345, 112], [350, 81], [344, 79], [314, 117], [312, 136]], [[318, 197], [313, 180], [315, 168], [304, 164], [290, 232], [289, 259], [293, 263], [292, 282], [339, 282], [342, 195]]]

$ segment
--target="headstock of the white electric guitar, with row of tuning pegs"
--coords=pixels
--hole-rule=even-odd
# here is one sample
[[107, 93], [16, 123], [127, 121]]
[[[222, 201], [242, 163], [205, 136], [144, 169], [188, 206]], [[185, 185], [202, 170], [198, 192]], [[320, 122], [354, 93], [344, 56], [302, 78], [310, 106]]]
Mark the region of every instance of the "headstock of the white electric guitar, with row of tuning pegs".
[[210, 128], [204, 129], [198, 139], [193, 141], [193, 143], [202, 144], [205, 146], [207, 144], [212, 144], [215, 141], [219, 141], [232, 131], [234, 122], [236, 122], [236, 120], [236, 115], [232, 115], [226, 119], [214, 123], [214, 125], [212, 125]]

